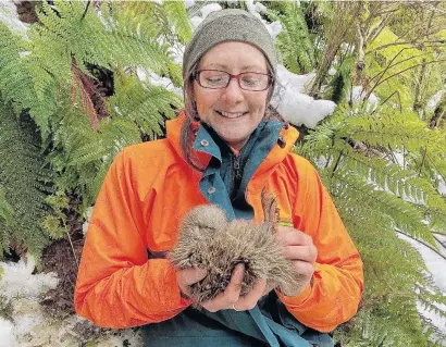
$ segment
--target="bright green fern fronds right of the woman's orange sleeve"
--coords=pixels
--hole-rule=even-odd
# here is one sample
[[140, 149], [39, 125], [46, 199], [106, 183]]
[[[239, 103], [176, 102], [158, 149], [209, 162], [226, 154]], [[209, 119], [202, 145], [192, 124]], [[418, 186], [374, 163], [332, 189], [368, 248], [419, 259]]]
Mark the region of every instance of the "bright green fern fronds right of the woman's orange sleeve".
[[[339, 339], [354, 346], [429, 346], [423, 332], [434, 326], [420, 318], [417, 303], [429, 302], [444, 315], [434, 302], [446, 299], [414, 295], [421, 286], [438, 292], [425, 276], [420, 257], [395, 230], [436, 247], [431, 232], [445, 230], [446, 203], [435, 181], [410, 163], [412, 153], [425, 150], [442, 156], [445, 138], [413, 113], [354, 108], [339, 106], [297, 149], [319, 166], [364, 261], [364, 313], [354, 319], [358, 325], [349, 337], [339, 331]], [[394, 162], [393, 151], [405, 151], [405, 165]], [[401, 323], [386, 329], [388, 321]]]

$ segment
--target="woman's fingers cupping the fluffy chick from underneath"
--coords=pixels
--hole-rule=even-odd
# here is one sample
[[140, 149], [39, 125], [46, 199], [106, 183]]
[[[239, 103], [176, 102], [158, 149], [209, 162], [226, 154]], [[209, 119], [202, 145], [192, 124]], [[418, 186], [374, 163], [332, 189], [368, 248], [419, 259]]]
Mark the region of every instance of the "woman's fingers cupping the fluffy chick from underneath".
[[252, 289], [245, 296], [240, 296], [241, 283], [244, 281], [245, 265], [235, 267], [231, 276], [231, 282], [223, 293], [214, 299], [205, 301], [201, 306], [210, 312], [220, 310], [246, 311], [256, 307], [257, 301], [262, 297], [267, 286], [267, 280], [258, 280]]

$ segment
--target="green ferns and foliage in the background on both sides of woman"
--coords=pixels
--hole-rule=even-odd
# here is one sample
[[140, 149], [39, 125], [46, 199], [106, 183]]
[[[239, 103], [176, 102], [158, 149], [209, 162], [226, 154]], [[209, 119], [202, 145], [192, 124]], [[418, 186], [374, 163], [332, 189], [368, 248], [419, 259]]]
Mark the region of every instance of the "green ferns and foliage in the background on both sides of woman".
[[[284, 28], [276, 40], [284, 65], [315, 72], [309, 92], [338, 103], [314, 129], [302, 129], [296, 149], [318, 168], [364, 261], [361, 310], [335, 332], [338, 346], [446, 340], [417, 310], [446, 317], [438, 309], [446, 299], [397, 236], [436, 248], [435, 234], [446, 234], [438, 193], [446, 92], [428, 104], [446, 89], [446, 4], [262, 3], [263, 18]], [[72, 196], [85, 212], [123, 147], [163, 136], [181, 97], [137, 72], [181, 87], [174, 52], [190, 38], [188, 15], [205, 4], [41, 2], [39, 22], [23, 36], [0, 23], [2, 249], [39, 258], [51, 239], [65, 237]]]

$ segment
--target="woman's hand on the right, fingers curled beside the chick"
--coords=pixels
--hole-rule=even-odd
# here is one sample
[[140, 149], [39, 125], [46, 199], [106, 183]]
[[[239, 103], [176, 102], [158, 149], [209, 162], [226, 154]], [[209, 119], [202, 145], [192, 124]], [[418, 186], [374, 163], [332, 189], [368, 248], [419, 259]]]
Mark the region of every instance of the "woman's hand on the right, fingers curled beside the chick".
[[280, 225], [275, 239], [284, 246], [285, 258], [292, 261], [293, 268], [301, 280], [302, 285], [299, 293], [303, 292], [312, 283], [314, 263], [318, 257], [318, 249], [313, 245], [312, 238], [294, 227]]

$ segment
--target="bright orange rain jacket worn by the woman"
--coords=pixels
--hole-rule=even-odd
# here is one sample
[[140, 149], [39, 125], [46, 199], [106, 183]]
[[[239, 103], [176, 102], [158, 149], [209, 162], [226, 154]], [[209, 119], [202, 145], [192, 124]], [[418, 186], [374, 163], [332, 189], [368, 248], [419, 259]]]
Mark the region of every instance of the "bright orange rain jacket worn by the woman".
[[[148, 251], [172, 249], [182, 218], [209, 203], [198, 188], [200, 173], [181, 154], [182, 120], [168, 121], [166, 139], [125, 148], [107, 174], [75, 288], [76, 312], [97, 325], [160, 322], [190, 305], [179, 296], [170, 261], [148, 259]], [[295, 297], [277, 295], [302, 324], [330, 332], [357, 312], [362, 262], [315, 170], [290, 152], [297, 131], [283, 128], [281, 136], [286, 146], [274, 146], [249, 182], [246, 198], [261, 222], [265, 187], [277, 198], [281, 220], [312, 237], [318, 248], [313, 285]]]

